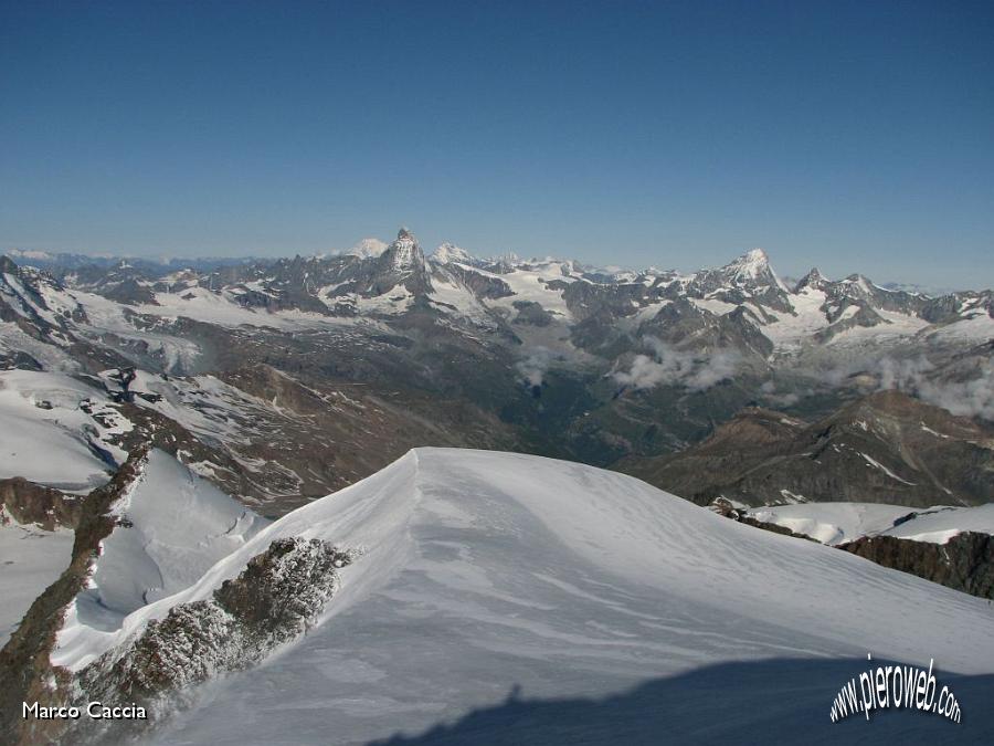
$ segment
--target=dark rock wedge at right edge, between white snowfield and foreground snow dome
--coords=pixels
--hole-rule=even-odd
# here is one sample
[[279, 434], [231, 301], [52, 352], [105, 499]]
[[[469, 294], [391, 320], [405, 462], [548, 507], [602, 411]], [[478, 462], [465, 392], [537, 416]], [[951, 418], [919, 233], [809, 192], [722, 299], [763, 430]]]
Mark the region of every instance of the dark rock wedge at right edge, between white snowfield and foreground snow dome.
[[964, 532], [945, 544], [864, 536], [838, 548], [884, 567], [994, 599], [994, 536], [990, 534]]

